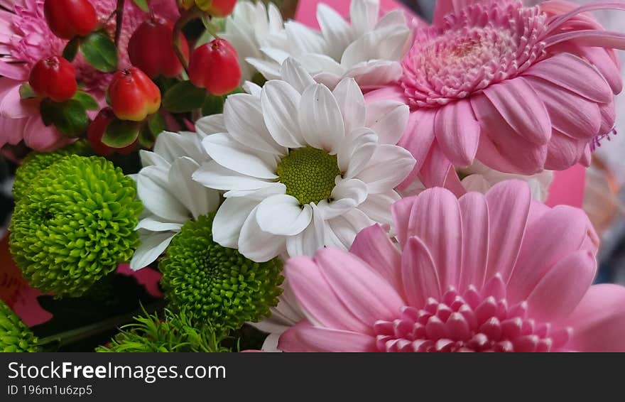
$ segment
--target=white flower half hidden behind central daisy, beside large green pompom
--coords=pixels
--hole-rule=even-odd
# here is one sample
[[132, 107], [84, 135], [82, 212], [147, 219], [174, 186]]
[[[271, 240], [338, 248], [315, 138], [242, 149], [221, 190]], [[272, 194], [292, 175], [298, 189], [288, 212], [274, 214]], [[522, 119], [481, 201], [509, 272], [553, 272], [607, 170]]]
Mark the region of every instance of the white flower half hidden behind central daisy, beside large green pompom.
[[210, 160], [201, 134], [165, 131], [156, 138], [153, 152], [140, 154], [143, 168], [135, 179], [145, 209], [136, 227], [141, 245], [130, 262], [135, 271], [156, 261], [183, 224], [219, 207], [219, 192], [191, 178]]

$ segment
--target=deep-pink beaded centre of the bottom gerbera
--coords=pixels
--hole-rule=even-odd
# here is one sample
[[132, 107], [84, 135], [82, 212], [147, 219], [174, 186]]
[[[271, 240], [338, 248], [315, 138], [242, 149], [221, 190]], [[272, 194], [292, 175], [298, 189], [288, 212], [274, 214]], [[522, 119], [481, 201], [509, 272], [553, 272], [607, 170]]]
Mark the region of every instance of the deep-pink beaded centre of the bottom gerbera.
[[550, 352], [562, 349], [569, 327], [552, 328], [527, 316], [528, 303], [483, 296], [474, 286], [450, 288], [441, 300], [404, 306], [393, 321], [374, 325], [380, 352]]

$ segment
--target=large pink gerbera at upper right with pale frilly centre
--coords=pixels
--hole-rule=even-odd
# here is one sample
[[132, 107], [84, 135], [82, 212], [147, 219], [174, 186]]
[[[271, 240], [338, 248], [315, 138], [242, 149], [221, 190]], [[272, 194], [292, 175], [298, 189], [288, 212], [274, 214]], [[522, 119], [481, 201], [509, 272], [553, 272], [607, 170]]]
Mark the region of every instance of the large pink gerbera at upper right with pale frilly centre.
[[624, 35], [584, 13], [595, 9], [625, 2], [438, 1], [433, 26], [416, 28], [398, 85], [369, 94], [411, 106], [400, 144], [425, 185], [455, 180], [452, 166], [476, 157], [526, 175], [589, 163], [593, 138], [614, 125], [622, 82], [613, 48], [625, 48]]

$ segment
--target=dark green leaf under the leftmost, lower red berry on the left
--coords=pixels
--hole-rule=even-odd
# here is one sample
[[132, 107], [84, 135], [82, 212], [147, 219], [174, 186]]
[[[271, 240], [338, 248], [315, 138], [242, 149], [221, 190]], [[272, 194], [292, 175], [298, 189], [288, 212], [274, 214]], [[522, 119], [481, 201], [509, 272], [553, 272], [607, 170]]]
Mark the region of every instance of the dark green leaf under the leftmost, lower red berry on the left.
[[80, 102], [70, 99], [67, 102], [54, 102], [43, 99], [40, 105], [43, 124], [54, 126], [68, 137], [81, 136], [89, 126], [87, 110]]

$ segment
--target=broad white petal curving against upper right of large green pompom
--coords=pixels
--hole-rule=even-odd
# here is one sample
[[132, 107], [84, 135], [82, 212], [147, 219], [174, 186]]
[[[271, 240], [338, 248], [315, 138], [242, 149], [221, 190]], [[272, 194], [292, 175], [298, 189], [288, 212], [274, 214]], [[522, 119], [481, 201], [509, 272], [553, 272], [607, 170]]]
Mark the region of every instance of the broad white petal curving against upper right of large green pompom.
[[[137, 176], [137, 195], [143, 206], [168, 222], [186, 222], [190, 213], [182, 203], [169, 192], [167, 174], [153, 170], [155, 166], [141, 169]], [[163, 177], [164, 176], [164, 177]]]

